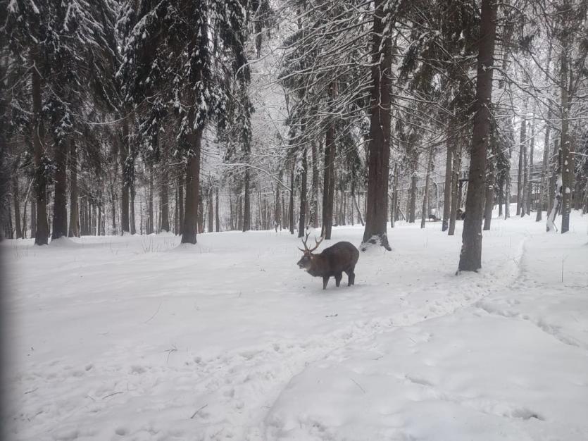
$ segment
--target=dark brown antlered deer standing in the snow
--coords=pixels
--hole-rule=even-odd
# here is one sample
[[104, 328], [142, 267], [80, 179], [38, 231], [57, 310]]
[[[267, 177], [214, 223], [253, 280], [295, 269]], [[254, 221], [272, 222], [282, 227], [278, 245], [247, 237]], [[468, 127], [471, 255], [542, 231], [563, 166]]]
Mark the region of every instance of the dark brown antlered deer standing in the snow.
[[304, 253], [302, 259], [297, 263], [299, 268], [306, 270], [306, 272], [313, 277], [323, 278], [323, 290], [327, 289], [329, 278], [334, 276], [337, 287], [341, 284], [343, 273], [347, 275], [347, 286], [355, 285], [355, 266], [357, 259], [359, 259], [359, 251], [350, 242], [337, 242], [332, 247], [323, 249], [319, 254], [313, 254], [313, 251], [318, 248], [320, 242], [325, 239], [324, 236], [317, 240], [315, 237], [315, 246], [312, 249], [308, 248], [308, 236], [302, 240], [304, 249], [298, 248]]

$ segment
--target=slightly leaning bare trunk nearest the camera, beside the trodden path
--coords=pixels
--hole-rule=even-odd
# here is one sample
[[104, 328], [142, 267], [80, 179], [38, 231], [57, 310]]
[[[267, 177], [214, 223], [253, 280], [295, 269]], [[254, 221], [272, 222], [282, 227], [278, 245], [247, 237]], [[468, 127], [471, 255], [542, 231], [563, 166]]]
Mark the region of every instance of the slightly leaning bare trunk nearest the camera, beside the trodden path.
[[484, 179], [486, 178], [486, 152], [492, 120], [492, 73], [494, 70], [494, 41], [496, 39], [496, 8], [494, 0], [482, 0], [481, 35], [477, 57], [476, 102], [473, 127], [473, 145], [470, 155], [468, 195], [465, 199], [465, 220], [459, 271], [477, 271], [482, 268], [482, 215]]

